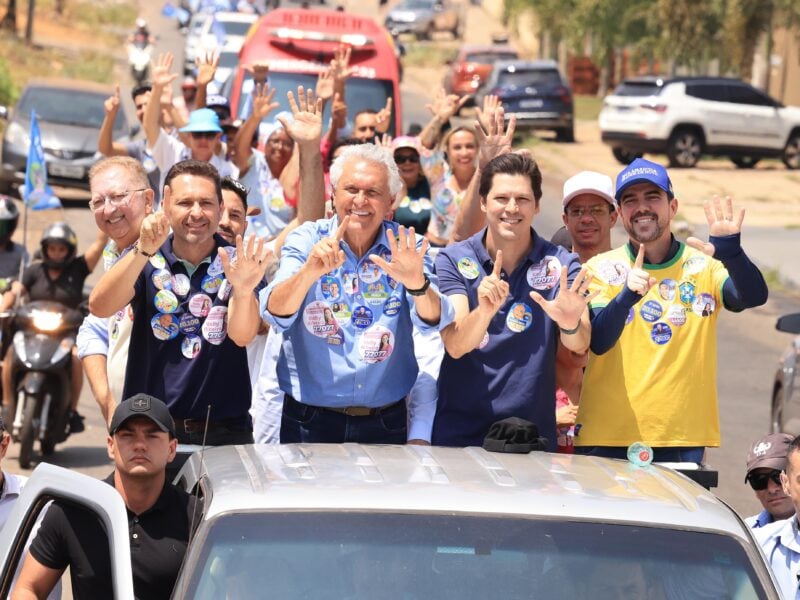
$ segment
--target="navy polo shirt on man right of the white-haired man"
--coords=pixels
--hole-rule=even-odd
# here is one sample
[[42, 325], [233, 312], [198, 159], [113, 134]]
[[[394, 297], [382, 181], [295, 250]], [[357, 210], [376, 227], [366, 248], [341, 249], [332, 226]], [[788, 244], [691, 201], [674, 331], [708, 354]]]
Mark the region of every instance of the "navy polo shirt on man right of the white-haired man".
[[[439, 446], [480, 446], [492, 423], [520, 417], [536, 423], [548, 449], [556, 449], [556, 350], [558, 325], [530, 297], [558, 294], [561, 267], [570, 282], [580, 271], [578, 256], [542, 239], [513, 273], [503, 272], [509, 298], [492, 319], [483, 341], [461, 358], [445, 354], [439, 373], [439, 401], [431, 442]], [[443, 248], [436, 258], [439, 289], [478, 306], [478, 286], [494, 263], [484, 245], [486, 229]]]

